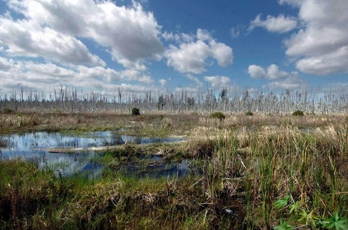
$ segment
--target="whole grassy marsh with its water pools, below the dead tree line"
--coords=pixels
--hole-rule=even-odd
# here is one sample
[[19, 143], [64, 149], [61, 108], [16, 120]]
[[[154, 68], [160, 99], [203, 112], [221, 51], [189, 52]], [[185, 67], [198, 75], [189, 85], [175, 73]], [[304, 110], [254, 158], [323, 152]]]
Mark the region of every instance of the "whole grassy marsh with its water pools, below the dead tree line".
[[[0, 127], [3, 229], [346, 228], [346, 116], [12, 112]], [[18, 137], [27, 155], [7, 154]]]

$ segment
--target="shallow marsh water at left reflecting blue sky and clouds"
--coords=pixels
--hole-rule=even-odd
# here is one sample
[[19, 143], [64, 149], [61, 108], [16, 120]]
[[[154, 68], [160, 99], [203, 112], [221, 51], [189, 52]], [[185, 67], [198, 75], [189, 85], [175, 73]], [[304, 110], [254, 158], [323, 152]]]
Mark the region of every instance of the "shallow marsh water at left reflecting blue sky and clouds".
[[[128, 135], [114, 134], [111, 131], [105, 132], [88, 132], [80, 136], [74, 136], [74, 133], [47, 133], [35, 132], [24, 134], [1, 135], [0, 140], [5, 140], [7, 147], [0, 148], [0, 159], [21, 157], [30, 160], [39, 165], [42, 169], [59, 170], [68, 172], [67, 175], [83, 174], [88, 172], [88, 178], [97, 177], [102, 172], [102, 165], [93, 163], [93, 158], [97, 153], [48, 153], [39, 150], [41, 148], [85, 148], [96, 146], [122, 145], [123, 143], [158, 143], [158, 142], [175, 142], [185, 140], [180, 137], [132, 137]], [[149, 176], [151, 178], [159, 176], [176, 176], [179, 177], [189, 171], [187, 162], [182, 163], [163, 163], [159, 157], [150, 157], [154, 164], [140, 168], [139, 165], [128, 163], [121, 167], [120, 173], [124, 175], [134, 175], [136, 177]], [[129, 166], [129, 167], [128, 167]], [[133, 167], [134, 166], [134, 167]]]

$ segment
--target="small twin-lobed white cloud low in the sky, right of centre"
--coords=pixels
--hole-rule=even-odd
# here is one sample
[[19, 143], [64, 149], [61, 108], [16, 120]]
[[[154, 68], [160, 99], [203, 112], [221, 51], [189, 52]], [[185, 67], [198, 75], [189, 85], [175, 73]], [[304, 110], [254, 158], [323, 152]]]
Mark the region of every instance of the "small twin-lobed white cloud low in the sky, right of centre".
[[272, 64], [267, 67], [266, 70], [257, 65], [250, 65], [248, 67], [248, 73], [250, 76], [254, 79], [268, 79], [268, 80], [275, 80], [275, 79], [284, 79], [286, 77], [289, 77], [290, 74], [288, 74], [285, 71], [280, 71], [278, 66], [275, 64]]

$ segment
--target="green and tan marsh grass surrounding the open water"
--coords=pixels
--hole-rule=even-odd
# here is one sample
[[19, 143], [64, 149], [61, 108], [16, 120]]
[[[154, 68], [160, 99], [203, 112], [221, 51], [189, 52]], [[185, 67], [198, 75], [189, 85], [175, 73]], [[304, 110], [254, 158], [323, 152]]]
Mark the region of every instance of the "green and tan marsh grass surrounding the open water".
[[[11, 116], [1, 118], [8, 130], [12, 126], [7, 124], [14, 124], [9, 122]], [[22, 114], [23, 130], [52, 125], [38, 122], [50, 120], [51, 115], [46, 120], [37, 115], [36, 125], [27, 123], [31, 116]], [[127, 143], [91, 159], [104, 165], [97, 178], [76, 175], [61, 181], [53, 166], [42, 170], [34, 162], [2, 160], [2, 228], [272, 229], [279, 220], [298, 226], [301, 213], [305, 220], [335, 212], [348, 215], [348, 125], [342, 116], [231, 115], [221, 121], [200, 115], [83, 116], [77, 132], [88, 125], [111, 129], [134, 121], [129, 132], [181, 133], [188, 140]], [[58, 118], [66, 128], [77, 115]], [[301, 131], [303, 127], [315, 131]], [[145, 168], [147, 158], [135, 156], [158, 153], [168, 161], [190, 157], [198, 173], [181, 179], [136, 179], [114, 170], [130, 160]], [[284, 197], [288, 197], [284, 206], [275, 207]], [[291, 205], [298, 212], [289, 213]]]

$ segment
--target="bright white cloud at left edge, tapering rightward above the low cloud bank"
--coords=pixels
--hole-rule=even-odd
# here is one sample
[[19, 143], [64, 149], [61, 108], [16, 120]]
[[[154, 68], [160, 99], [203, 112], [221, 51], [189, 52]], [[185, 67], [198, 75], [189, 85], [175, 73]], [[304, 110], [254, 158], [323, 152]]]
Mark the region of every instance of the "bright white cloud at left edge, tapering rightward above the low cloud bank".
[[0, 16], [0, 40], [8, 47], [4, 51], [11, 56], [105, 66], [105, 62], [92, 55], [80, 40], [25, 19], [13, 21]]

